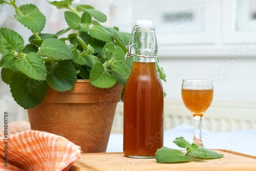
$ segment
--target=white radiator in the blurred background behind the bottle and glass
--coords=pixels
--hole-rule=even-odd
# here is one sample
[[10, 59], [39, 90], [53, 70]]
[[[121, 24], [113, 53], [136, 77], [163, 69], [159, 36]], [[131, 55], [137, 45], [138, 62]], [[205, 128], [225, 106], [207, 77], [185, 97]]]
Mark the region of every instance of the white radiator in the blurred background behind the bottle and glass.
[[[164, 102], [164, 130], [182, 123], [194, 125], [193, 116], [182, 101]], [[202, 129], [213, 132], [227, 132], [256, 129], [255, 103], [213, 102], [202, 119]], [[117, 104], [112, 133], [123, 131], [123, 103]]]

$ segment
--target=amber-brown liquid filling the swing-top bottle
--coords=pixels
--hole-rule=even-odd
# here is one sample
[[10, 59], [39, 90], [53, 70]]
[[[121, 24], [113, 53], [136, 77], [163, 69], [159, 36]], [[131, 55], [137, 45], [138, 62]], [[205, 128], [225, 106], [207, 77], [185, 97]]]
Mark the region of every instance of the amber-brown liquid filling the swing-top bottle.
[[133, 62], [124, 90], [123, 153], [153, 158], [163, 146], [163, 88], [155, 62]]

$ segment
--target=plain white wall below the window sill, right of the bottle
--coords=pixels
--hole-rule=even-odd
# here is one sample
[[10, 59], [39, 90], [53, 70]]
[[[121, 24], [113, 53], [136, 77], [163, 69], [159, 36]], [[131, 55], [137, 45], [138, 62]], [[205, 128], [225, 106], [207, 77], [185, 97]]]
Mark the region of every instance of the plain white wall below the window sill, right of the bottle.
[[181, 100], [182, 79], [211, 78], [215, 82], [213, 102], [242, 102], [256, 105], [256, 58], [244, 57], [233, 66], [226, 58], [217, 56], [163, 57], [160, 62], [167, 76], [167, 82], [163, 82], [167, 93], [166, 99]]

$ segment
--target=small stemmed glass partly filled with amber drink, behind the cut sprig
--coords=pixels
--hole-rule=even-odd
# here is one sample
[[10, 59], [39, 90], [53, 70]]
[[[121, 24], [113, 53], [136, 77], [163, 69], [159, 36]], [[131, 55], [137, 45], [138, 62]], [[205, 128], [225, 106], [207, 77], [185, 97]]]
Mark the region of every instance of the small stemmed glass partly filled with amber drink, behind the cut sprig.
[[201, 138], [201, 123], [214, 97], [214, 84], [209, 79], [183, 79], [181, 94], [184, 105], [195, 121], [193, 143], [204, 146]]

